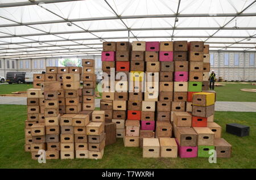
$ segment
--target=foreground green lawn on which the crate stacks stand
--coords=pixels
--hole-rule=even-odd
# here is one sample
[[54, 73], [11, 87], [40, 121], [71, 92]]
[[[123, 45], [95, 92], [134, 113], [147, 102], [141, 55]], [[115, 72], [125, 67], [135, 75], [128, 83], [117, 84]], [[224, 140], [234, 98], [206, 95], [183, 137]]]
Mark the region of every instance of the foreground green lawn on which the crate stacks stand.
[[[24, 105], [0, 105], [0, 168], [256, 168], [256, 113], [216, 112], [216, 122], [222, 126], [222, 137], [232, 147], [232, 158], [218, 158], [209, 164], [208, 158], [142, 158], [141, 148], [125, 148], [122, 139], [105, 147], [102, 160], [47, 160], [39, 164], [24, 152]], [[226, 123], [250, 126], [250, 136], [238, 137], [225, 132]]]

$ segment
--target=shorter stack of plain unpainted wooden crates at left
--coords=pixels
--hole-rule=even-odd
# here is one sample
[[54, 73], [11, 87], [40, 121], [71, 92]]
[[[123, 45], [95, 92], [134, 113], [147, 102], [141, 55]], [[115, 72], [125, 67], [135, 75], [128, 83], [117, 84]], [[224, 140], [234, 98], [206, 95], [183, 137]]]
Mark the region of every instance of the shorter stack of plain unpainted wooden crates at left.
[[27, 90], [25, 151], [33, 159], [40, 149], [47, 160], [102, 158], [105, 112], [94, 110], [94, 59], [82, 59], [82, 67], [47, 67], [46, 74], [34, 74], [33, 85]]

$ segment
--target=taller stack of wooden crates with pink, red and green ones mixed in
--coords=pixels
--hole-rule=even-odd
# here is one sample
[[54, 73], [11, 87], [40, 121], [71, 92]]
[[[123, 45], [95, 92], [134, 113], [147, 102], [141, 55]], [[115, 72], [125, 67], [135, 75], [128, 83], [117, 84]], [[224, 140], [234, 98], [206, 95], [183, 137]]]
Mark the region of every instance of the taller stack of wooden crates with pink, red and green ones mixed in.
[[[216, 93], [208, 91], [209, 45], [201, 41], [104, 42], [103, 50], [102, 69], [110, 75], [110, 67], [115, 68], [115, 77], [112, 92], [102, 92], [101, 110], [112, 105], [112, 122], [125, 147], [143, 147], [143, 157], [208, 157], [210, 149], [222, 144], [219, 149], [229, 147], [225, 152], [230, 156], [231, 146], [220, 140], [221, 127], [213, 124], [214, 105], [208, 116], [192, 113], [196, 109], [193, 94], [204, 91], [216, 99]], [[205, 130], [200, 128], [201, 119]], [[203, 132], [221, 143], [198, 144]]]

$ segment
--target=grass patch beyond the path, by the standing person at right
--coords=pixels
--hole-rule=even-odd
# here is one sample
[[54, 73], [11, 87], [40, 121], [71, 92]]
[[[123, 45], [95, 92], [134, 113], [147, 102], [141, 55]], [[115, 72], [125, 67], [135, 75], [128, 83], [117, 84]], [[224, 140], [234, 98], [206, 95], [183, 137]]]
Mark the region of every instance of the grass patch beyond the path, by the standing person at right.
[[256, 102], [255, 92], [245, 92], [240, 89], [256, 89], [256, 86], [251, 84], [225, 83], [222, 87], [215, 87], [214, 91], [217, 92], [217, 101]]

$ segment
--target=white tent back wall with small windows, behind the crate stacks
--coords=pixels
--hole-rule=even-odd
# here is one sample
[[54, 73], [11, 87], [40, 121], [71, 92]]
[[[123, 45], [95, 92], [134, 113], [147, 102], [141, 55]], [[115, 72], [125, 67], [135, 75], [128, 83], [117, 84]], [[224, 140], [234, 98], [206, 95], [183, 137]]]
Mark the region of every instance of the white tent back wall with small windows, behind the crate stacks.
[[[216, 72], [217, 78], [222, 77], [225, 80], [256, 80], [256, 53], [252, 52], [215, 52], [211, 51], [213, 54], [213, 64], [211, 64], [210, 69]], [[224, 54], [229, 54], [229, 65], [224, 65]], [[239, 63], [238, 66], [234, 65], [234, 56], [238, 54]], [[254, 65], [250, 65], [250, 54], [254, 54]], [[76, 58], [76, 57], [73, 57]], [[96, 74], [101, 73], [101, 56], [100, 55], [90, 55], [82, 56], [77, 58], [92, 58], [95, 59]], [[5, 76], [7, 71], [45, 71], [46, 66], [49, 66], [49, 60], [52, 61], [52, 65], [55, 66], [55, 59], [58, 58], [38, 58], [38, 59], [9, 59], [10, 67], [11, 61], [15, 61], [15, 68], [7, 69], [6, 62], [8, 59], [1, 59], [0, 76]], [[59, 58], [60, 59], [60, 58]], [[23, 61], [23, 68], [20, 68], [20, 61]], [[26, 61], [29, 62], [29, 68], [26, 67]], [[34, 67], [34, 61], [37, 62], [37, 67]], [[40, 61], [43, 61], [43, 68], [40, 68]], [[32, 67], [31, 67], [32, 62]], [[5, 65], [5, 67], [4, 67]], [[18, 67], [17, 67], [18, 65]]]

